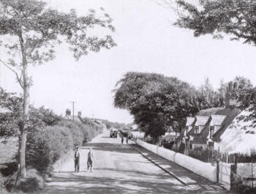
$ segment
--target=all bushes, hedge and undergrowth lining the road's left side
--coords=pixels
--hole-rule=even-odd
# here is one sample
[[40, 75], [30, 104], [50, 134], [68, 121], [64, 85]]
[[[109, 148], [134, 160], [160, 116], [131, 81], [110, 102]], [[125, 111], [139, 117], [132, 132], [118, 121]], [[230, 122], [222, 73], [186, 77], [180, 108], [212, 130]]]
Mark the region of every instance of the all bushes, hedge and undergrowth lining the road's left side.
[[[102, 125], [91, 120], [72, 122], [54, 114], [50, 109], [30, 106], [29, 123], [26, 139], [26, 178], [18, 179], [18, 125], [22, 98], [15, 93], [0, 89], [0, 106], [6, 109], [0, 114], [0, 177], [1, 189], [9, 191], [18, 189], [23, 192], [34, 192], [44, 187], [45, 179], [53, 172], [53, 164], [61, 157], [82, 146], [102, 132]], [[5, 187], [4, 187], [5, 186]], [[5, 191], [7, 192], [7, 191]]]

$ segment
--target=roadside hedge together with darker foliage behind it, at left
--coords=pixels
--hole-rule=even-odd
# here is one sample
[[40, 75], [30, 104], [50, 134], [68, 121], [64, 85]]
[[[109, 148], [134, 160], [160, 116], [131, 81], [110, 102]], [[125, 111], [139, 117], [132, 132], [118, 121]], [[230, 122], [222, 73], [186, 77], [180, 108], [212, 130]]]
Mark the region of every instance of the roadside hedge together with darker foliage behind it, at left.
[[[0, 88], [0, 106], [5, 110], [0, 113], [0, 136], [18, 136], [22, 98]], [[102, 131], [102, 126], [95, 125], [91, 120], [64, 120], [44, 107], [36, 109], [30, 106], [27, 123], [26, 165], [41, 173], [49, 173], [52, 164], [62, 155], [75, 146], [85, 144]]]

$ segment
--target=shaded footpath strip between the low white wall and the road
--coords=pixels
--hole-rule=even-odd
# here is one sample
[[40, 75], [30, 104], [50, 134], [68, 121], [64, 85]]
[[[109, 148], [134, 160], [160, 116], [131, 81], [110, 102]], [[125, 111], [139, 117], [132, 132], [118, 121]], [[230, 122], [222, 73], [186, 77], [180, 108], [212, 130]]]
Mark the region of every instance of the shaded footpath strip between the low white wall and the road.
[[166, 160], [165, 158], [162, 158], [159, 155], [156, 155], [153, 152], [150, 152], [145, 148], [140, 147], [133, 141], [129, 142], [130, 146], [133, 147], [138, 152], [140, 152], [141, 155], [150, 160], [159, 168], [162, 168], [162, 170], [167, 172], [167, 174], [170, 174], [170, 176], [173, 176], [176, 179], [178, 179], [178, 181], [181, 182], [182, 184], [193, 188], [203, 187], [206, 190], [212, 190], [218, 193], [229, 193], [221, 185], [211, 182], [208, 179], [203, 178], [202, 176], [194, 174], [192, 171], [189, 171], [176, 163]]

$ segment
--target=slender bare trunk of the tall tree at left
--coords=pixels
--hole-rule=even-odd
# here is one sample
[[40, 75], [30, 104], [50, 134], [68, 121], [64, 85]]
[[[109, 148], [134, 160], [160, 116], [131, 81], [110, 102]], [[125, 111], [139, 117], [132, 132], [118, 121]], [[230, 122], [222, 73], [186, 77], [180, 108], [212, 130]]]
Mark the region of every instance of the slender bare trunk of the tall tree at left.
[[23, 66], [23, 85], [21, 87], [23, 88], [23, 112], [22, 112], [22, 121], [20, 125], [20, 137], [19, 137], [19, 164], [20, 164], [20, 176], [23, 178], [26, 176], [26, 130], [27, 130], [27, 121], [29, 118], [29, 77], [28, 77], [28, 63], [26, 61], [26, 52], [23, 45], [23, 36], [19, 35], [20, 40], [20, 50], [22, 53], [22, 66]]

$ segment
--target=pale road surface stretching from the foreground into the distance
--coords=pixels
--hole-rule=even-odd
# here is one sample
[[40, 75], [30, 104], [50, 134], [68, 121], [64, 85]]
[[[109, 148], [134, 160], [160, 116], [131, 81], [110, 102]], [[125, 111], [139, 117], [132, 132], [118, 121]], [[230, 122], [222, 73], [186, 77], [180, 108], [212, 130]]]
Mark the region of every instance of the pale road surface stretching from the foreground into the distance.
[[[89, 147], [96, 158], [92, 173], [86, 170]], [[74, 172], [70, 158], [56, 169], [44, 193], [227, 193], [220, 187], [204, 187], [200, 181], [183, 185], [129, 145], [121, 144], [119, 137], [110, 138], [109, 131], [82, 147], [80, 157], [80, 172]], [[204, 179], [205, 186], [207, 183], [211, 185]]]

